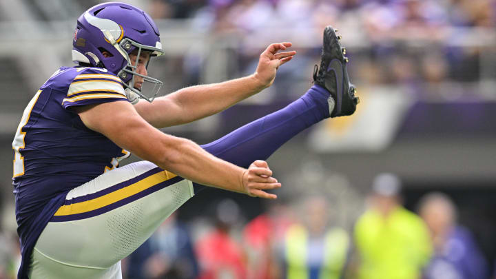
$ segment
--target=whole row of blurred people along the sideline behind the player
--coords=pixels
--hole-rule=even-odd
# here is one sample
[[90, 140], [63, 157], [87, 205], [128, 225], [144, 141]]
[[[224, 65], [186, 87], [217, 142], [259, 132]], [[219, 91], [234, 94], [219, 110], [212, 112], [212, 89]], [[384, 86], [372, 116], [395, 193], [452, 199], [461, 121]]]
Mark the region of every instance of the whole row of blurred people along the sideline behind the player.
[[248, 222], [233, 200], [222, 200], [214, 222], [186, 225], [169, 218], [125, 260], [125, 277], [490, 278], [473, 234], [457, 223], [451, 198], [425, 194], [414, 213], [402, 206], [401, 187], [397, 176], [378, 175], [350, 229], [324, 195], [270, 203]]

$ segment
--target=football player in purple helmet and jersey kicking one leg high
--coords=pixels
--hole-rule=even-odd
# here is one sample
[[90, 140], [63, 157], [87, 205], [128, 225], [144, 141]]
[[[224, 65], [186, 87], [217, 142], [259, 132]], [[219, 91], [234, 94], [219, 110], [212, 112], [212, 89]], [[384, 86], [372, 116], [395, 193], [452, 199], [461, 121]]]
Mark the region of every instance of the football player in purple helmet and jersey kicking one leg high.
[[[84, 12], [73, 40], [78, 65], [40, 87], [12, 143], [19, 278], [121, 278], [120, 260], [201, 185], [276, 198], [266, 191], [280, 183], [263, 160], [322, 119], [355, 112], [333, 28], [324, 30], [315, 85], [282, 110], [201, 147], [157, 128], [216, 114], [270, 86], [296, 54], [289, 47], [269, 45], [250, 76], [154, 100], [162, 82], [147, 64], [164, 53], [154, 21], [125, 3]], [[144, 161], [117, 168], [130, 152]]]

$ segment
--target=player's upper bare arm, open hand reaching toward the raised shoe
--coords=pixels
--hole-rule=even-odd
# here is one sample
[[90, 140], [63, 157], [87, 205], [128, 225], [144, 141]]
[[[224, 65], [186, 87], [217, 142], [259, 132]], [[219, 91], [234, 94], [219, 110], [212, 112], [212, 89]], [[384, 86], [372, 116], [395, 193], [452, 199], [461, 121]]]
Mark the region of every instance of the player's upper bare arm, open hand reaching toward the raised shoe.
[[154, 127], [169, 127], [196, 121], [221, 112], [249, 96], [272, 85], [280, 65], [287, 63], [295, 51], [279, 52], [291, 43], [273, 43], [260, 54], [256, 72], [240, 79], [223, 83], [196, 85], [155, 99], [141, 101], [136, 110]]

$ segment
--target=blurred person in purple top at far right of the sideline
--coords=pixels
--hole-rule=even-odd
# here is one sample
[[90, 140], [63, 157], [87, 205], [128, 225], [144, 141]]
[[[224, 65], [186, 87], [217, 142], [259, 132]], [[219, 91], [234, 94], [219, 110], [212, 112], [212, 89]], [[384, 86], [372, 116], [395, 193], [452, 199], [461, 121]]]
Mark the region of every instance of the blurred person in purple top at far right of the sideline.
[[431, 231], [434, 255], [426, 268], [426, 279], [489, 278], [488, 264], [473, 235], [457, 225], [453, 201], [439, 192], [426, 194], [419, 214]]

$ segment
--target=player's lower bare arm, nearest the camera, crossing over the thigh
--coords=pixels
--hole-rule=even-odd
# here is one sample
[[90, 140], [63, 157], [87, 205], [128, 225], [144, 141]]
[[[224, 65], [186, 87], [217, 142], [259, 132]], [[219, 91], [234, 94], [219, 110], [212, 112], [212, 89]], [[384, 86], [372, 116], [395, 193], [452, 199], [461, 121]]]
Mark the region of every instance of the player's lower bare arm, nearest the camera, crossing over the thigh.
[[280, 183], [271, 177], [272, 172], [264, 161], [256, 161], [245, 169], [216, 158], [192, 141], [152, 127], [126, 101], [87, 105], [76, 112], [86, 127], [179, 176], [249, 196], [276, 198], [265, 192], [280, 187]]

